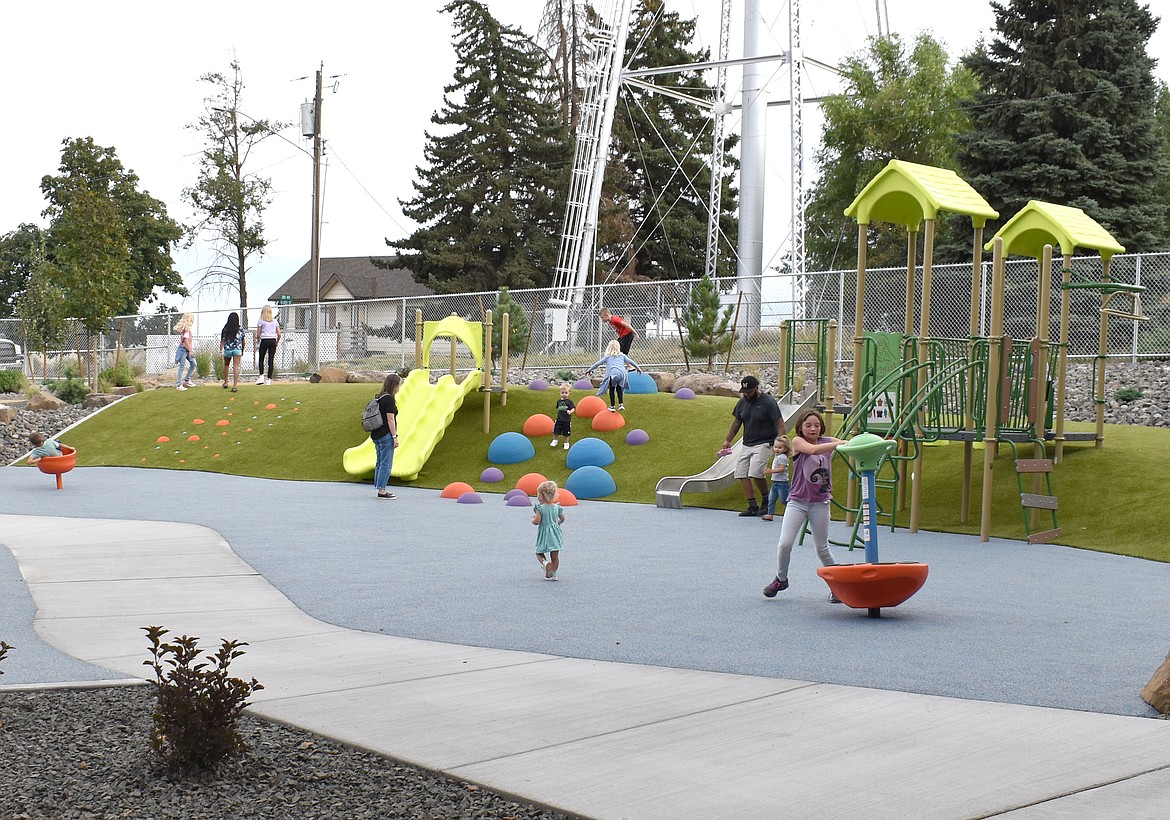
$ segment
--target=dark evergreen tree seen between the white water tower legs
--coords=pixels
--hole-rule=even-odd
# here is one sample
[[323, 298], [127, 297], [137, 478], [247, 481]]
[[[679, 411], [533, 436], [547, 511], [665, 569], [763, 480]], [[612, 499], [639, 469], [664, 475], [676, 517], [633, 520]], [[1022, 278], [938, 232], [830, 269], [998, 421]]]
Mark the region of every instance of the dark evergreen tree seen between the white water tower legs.
[[[639, 0], [629, 23], [624, 64], [631, 69], [682, 66], [711, 58], [691, 49], [695, 20], [666, 11], [663, 0]], [[700, 71], [655, 76], [654, 84], [710, 101], [715, 91]], [[613, 145], [598, 220], [598, 261], [619, 278], [693, 278], [707, 259], [710, 198], [710, 115], [694, 103], [641, 89], [625, 89], [613, 125]], [[737, 193], [730, 180], [738, 163], [737, 137], [724, 142], [720, 208], [720, 274], [735, 259]]]

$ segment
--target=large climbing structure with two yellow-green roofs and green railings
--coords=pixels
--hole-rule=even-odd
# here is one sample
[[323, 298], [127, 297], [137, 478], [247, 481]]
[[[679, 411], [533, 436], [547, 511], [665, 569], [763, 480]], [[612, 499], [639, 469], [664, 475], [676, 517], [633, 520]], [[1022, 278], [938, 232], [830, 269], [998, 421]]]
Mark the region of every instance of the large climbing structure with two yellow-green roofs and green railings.
[[[935, 226], [940, 213], [959, 214], [970, 220], [972, 267], [970, 277], [970, 322], [963, 337], [935, 336], [931, 332], [931, 288]], [[907, 507], [909, 487], [909, 529], [918, 529], [922, 489], [928, 481], [923, 454], [928, 445], [956, 442], [964, 448], [959, 519], [970, 516], [975, 450], [983, 448], [983, 485], [979, 535], [987, 540], [991, 528], [993, 467], [1000, 445], [1012, 454], [1019, 487], [1020, 510], [1030, 542], [1047, 542], [1060, 535], [1057, 519], [1058, 501], [1053, 494], [1052, 474], [1067, 442], [1092, 441], [1100, 447], [1103, 436], [1104, 359], [1110, 317], [1140, 319], [1142, 288], [1112, 281], [1110, 257], [1124, 250], [1104, 228], [1079, 208], [1032, 201], [984, 243], [984, 228], [998, 213], [957, 174], [914, 163], [892, 160], [869, 181], [846, 211], [858, 221], [858, 269], [854, 301], [852, 406], [834, 404], [832, 379], [835, 361], [835, 322], [803, 319], [784, 323], [780, 333], [780, 388], [790, 388], [797, 361], [812, 360], [815, 372], [813, 393], [823, 407], [826, 423], [833, 427], [833, 414], [844, 419], [834, 435], [848, 437], [872, 432], [896, 442], [896, 448], [882, 461], [875, 478], [875, 494], [883, 497], [875, 518], [894, 526], [899, 511]], [[867, 331], [866, 257], [869, 227], [874, 222], [900, 226], [906, 232], [906, 304], [902, 332]], [[920, 257], [921, 234], [921, 269]], [[1051, 339], [1053, 246], [1060, 248], [1059, 336]], [[989, 294], [982, 294], [982, 266], [985, 249], [992, 251], [992, 276]], [[1099, 280], [1074, 277], [1072, 257], [1076, 250], [1101, 255]], [[1026, 324], [1026, 308], [1013, 303], [1013, 329], [1017, 337], [1005, 333], [1005, 260], [1009, 255], [1037, 260], [1034, 281], [1034, 321]], [[1019, 301], [1024, 288], [1017, 283], [1013, 295]], [[1100, 351], [1094, 373], [1097, 400], [1095, 433], [1069, 433], [1065, 429], [1065, 384], [1069, 322], [1069, 295], [1073, 291], [1101, 294]], [[990, 302], [990, 323], [980, 332], [982, 303]], [[870, 305], [872, 306], [872, 305]], [[883, 304], [883, 308], [890, 305]], [[882, 311], [883, 318], [889, 311]], [[915, 326], [915, 319], [917, 325]], [[1020, 338], [1024, 332], [1026, 338]], [[1054, 457], [1048, 455], [1053, 446]], [[1028, 449], [1028, 453], [1021, 450]], [[1030, 456], [1030, 457], [1028, 457]], [[841, 454], [848, 464], [848, 460]], [[848, 498], [840, 504], [847, 521], [854, 524], [856, 540], [856, 497], [860, 475], [852, 467]], [[838, 503], [834, 501], [834, 503]], [[1040, 526], [1040, 517], [1051, 516], [1051, 525]]]

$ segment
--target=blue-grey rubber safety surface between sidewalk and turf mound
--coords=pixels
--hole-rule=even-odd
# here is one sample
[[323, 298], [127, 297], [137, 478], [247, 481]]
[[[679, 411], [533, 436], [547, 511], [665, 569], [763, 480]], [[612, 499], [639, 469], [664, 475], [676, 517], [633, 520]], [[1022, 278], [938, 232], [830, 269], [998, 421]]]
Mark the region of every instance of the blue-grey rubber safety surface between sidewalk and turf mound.
[[[827, 602], [808, 543], [791, 588], [763, 597], [779, 517], [581, 502], [565, 510], [553, 583], [507, 484], [457, 504], [411, 487], [386, 502], [367, 484], [151, 469], [78, 468], [64, 483], [0, 469], [0, 512], [201, 524], [308, 614], [373, 633], [1134, 716], [1156, 715], [1138, 692], [1170, 649], [1170, 565], [1064, 546], [883, 529], [881, 560], [930, 576], [872, 619]], [[845, 533], [834, 522], [831, 536]], [[0, 551], [0, 639], [18, 647], [0, 685], [116, 677], [41, 642], [33, 612]]]

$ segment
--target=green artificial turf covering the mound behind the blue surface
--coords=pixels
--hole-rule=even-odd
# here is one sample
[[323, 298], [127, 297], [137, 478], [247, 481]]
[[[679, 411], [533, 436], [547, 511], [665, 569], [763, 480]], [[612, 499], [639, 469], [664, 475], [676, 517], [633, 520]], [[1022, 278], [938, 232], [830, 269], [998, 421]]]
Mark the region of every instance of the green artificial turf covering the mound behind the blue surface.
[[[342, 469], [342, 453], [365, 440], [362, 409], [377, 390], [374, 385], [311, 385], [287, 383], [269, 386], [243, 385], [239, 393], [216, 386], [186, 392], [158, 390], [131, 397], [87, 419], [64, 436], [77, 447], [81, 466], [154, 467], [194, 469], [266, 478], [310, 481], [366, 481]], [[573, 399], [587, 395], [574, 391]], [[511, 386], [507, 406], [498, 393], [491, 397], [490, 433], [483, 433], [483, 394], [473, 393], [455, 414], [446, 435], [427, 461], [415, 487], [442, 488], [466, 481], [479, 490], [503, 491], [525, 473], [541, 473], [564, 485], [570, 470], [565, 452], [549, 447], [548, 439], [534, 439], [536, 455], [519, 464], [498, 466], [504, 482], [483, 483], [480, 474], [490, 463], [488, 445], [504, 432], [521, 430], [535, 413], [556, 414], [553, 391], [530, 391]], [[273, 404], [275, 408], [268, 409]], [[608, 442], [617, 461], [606, 469], [618, 490], [611, 501], [654, 503], [654, 488], [666, 475], [694, 475], [715, 461], [716, 449], [730, 425], [735, 399], [698, 397], [675, 399], [670, 393], [627, 394], [625, 428], [594, 433], [590, 420], [573, 419], [573, 441], [594, 436]], [[603, 411], [604, 412], [604, 411]], [[195, 425], [195, 419], [205, 423]], [[226, 420], [226, 427], [216, 421]], [[408, 425], [407, 418], [400, 423]], [[649, 442], [632, 447], [626, 434], [641, 427]], [[250, 428], [250, 430], [248, 429]], [[1087, 430], [1089, 425], [1071, 423]], [[226, 435], [225, 435], [226, 434]], [[170, 437], [157, 442], [160, 435]], [[199, 435], [197, 442], [187, 441]], [[1109, 426], [1106, 442], [1068, 445], [1064, 463], [1053, 474], [1053, 491], [1060, 499], [1059, 523], [1064, 535], [1057, 543], [1103, 552], [1170, 561], [1170, 540], [1156, 521], [1163, 511], [1156, 498], [1164, 497], [1163, 466], [1170, 452], [1170, 430]], [[1031, 457], [1031, 448], [1021, 452]], [[983, 452], [973, 452], [971, 515], [959, 522], [963, 445], [948, 443], [925, 449], [921, 491], [921, 530], [977, 533], [982, 498]], [[844, 471], [835, 473], [837, 497], [845, 501]], [[1025, 537], [1019, 489], [1011, 449], [1003, 447], [996, 461], [992, 535]], [[1031, 491], [1031, 482], [1025, 484]], [[888, 497], [879, 494], [888, 507]], [[687, 494], [683, 504], [738, 510], [744, 503], [738, 484], [711, 494]], [[909, 509], [899, 512], [899, 526], [909, 524]], [[1041, 515], [1038, 529], [1051, 526], [1051, 515]], [[924, 536], [929, 537], [929, 536]], [[1027, 549], [1021, 544], [1020, 549]]]

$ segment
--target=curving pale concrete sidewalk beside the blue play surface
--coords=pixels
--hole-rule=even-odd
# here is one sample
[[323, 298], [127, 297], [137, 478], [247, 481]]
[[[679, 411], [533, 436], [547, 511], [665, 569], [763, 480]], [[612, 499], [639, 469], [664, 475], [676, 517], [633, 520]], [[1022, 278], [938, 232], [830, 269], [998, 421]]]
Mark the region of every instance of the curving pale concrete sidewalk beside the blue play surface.
[[1170, 806], [1165, 721], [347, 629], [197, 524], [4, 515], [0, 533], [36, 634], [74, 659], [140, 676], [151, 623], [246, 640], [233, 671], [264, 683], [253, 711], [566, 812], [1129, 820]]

